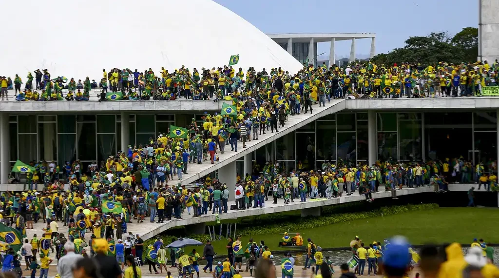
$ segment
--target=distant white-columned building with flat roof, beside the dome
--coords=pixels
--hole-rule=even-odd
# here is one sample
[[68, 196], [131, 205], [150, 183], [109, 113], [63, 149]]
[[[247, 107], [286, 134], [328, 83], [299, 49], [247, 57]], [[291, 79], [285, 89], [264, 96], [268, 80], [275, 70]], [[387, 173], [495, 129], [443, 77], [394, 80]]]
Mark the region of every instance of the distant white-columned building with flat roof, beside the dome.
[[299, 33], [299, 34], [267, 34], [300, 63], [317, 65], [317, 43], [331, 42], [329, 50], [329, 66], [334, 64], [334, 43], [339, 40], [351, 40], [350, 61], [355, 61], [355, 40], [371, 39], [370, 57], [376, 54], [376, 34], [374, 33]]

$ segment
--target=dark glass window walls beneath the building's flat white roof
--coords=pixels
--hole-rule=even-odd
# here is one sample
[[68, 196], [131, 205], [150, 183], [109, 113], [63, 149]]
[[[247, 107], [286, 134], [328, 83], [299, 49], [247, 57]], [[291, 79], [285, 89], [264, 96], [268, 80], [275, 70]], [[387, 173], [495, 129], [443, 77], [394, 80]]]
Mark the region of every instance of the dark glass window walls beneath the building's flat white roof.
[[[497, 113], [376, 113], [376, 160], [428, 161], [463, 157], [490, 163], [497, 157]], [[201, 115], [182, 115], [201, 121]], [[130, 115], [130, 144], [145, 145], [166, 133], [175, 115]], [[122, 150], [120, 115], [18, 115], [9, 117], [10, 162], [19, 159], [79, 159], [84, 165], [106, 160]], [[317, 169], [324, 162], [369, 161], [366, 112], [336, 113], [300, 127], [252, 153], [265, 165], [279, 161], [287, 170]], [[244, 171], [238, 160], [238, 171]]]

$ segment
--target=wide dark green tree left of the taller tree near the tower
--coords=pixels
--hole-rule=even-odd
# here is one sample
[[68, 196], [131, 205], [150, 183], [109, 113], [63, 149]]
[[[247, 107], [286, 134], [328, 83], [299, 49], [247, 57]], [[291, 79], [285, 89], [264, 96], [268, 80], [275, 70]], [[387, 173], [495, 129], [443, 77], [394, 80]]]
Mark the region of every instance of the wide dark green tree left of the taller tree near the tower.
[[423, 66], [434, 65], [438, 62], [461, 63], [474, 61], [468, 59], [465, 48], [453, 43], [446, 32], [430, 33], [428, 36], [413, 36], [405, 41], [405, 46], [396, 48], [388, 53], [380, 53], [371, 61], [376, 64], [392, 65], [394, 63], [410, 62], [421, 63]]

